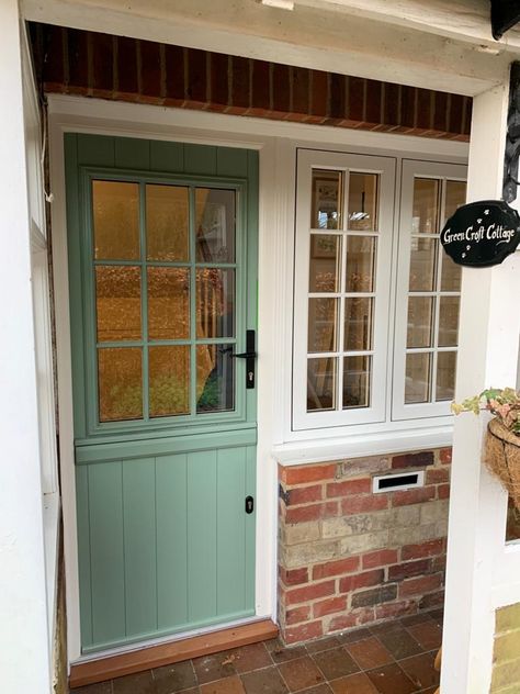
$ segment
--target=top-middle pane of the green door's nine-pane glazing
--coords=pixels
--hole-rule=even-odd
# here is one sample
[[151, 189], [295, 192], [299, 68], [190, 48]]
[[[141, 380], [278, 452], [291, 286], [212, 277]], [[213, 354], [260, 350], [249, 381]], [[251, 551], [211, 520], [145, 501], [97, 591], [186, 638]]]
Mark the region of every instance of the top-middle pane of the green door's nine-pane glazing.
[[148, 260], [189, 260], [188, 188], [146, 186], [146, 254]]

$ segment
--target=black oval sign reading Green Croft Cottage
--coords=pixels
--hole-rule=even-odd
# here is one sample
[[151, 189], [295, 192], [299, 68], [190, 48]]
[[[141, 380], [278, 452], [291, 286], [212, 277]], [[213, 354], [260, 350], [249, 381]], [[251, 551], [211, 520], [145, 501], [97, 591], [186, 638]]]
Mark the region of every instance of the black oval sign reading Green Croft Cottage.
[[448, 220], [440, 238], [457, 265], [499, 265], [520, 243], [520, 216], [501, 200], [471, 202]]

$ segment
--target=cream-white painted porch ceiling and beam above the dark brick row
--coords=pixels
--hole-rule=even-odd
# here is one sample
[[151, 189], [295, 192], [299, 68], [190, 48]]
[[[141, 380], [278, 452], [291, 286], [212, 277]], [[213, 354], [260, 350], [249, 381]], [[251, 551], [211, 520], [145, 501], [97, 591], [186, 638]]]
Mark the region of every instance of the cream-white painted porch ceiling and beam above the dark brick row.
[[[501, 82], [520, 55], [508, 38], [490, 41], [489, 23], [481, 38], [485, 2], [297, 0], [287, 12], [256, 0], [22, 0], [21, 8], [48, 24], [475, 96]], [[463, 31], [468, 5], [473, 29]]]

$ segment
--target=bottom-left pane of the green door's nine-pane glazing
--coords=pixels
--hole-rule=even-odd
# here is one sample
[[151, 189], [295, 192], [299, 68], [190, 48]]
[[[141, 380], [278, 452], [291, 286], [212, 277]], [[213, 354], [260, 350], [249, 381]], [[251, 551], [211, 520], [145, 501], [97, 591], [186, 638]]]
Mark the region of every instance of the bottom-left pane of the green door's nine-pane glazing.
[[98, 350], [100, 422], [143, 417], [143, 367], [139, 347]]

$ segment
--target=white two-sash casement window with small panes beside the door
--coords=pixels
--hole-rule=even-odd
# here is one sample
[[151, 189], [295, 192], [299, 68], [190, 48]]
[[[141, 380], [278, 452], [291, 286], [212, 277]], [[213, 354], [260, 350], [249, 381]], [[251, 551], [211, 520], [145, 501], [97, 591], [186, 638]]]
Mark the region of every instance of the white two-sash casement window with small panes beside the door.
[[405, 160], [397, 192], [399, 164], [298, 152], [294, 430], [449, 414], [461, 269], [439, 233], [465, 167]]

